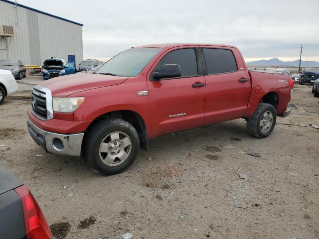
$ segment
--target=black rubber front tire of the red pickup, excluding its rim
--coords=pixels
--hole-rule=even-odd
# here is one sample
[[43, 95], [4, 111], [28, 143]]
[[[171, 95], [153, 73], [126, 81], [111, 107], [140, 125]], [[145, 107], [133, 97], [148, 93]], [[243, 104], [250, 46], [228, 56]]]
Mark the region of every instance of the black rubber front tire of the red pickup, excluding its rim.
[[[124, 132], [130, 138], [131, 150], [129, 156], [121, 164], [110, 166], [102, 162], [100, 158], [100, 144], [107, 135], [117, 131]], [[94, 171], [103, 175], [113, 175], [123, 172], [134, 162], [139, 147], [139, 134], [132, 124], [122, 119], [104, 119], [89, 130], [84, 141], [84, 156]]]

